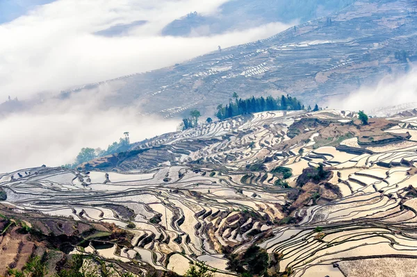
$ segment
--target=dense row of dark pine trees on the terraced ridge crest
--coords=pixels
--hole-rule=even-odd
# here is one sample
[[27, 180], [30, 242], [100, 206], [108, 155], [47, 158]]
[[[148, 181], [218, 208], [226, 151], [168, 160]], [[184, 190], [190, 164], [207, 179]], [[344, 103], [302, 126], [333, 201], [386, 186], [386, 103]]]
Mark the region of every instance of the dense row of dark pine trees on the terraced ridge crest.
[[[273, 98], [268, 96], [263, 98], [255, 98], [252, 96], [249, 99], [238, 99], [236, 92], [233, 94], [234, 101], [230, 101], [228, 105], [223, 107], [219, 105], [215, 114], [218, 119], [223, 120], [230, 117], [236, 117], [236, 115], [247, 115], [252, 112], [265, 112], [268, 110], [305, 110], [304, 105], [295, 97], [281, 96], [280, 98]], [[311, 110], [311, 107], [307, 110]], [[318, 110], [316, 105], [313, 110]]]

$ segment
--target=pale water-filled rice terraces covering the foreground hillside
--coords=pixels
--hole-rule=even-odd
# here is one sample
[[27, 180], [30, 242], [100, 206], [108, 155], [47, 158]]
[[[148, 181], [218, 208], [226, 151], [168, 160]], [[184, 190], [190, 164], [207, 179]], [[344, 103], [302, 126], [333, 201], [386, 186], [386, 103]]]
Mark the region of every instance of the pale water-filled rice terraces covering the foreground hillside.
[[[184, 274], [204, 261], [236, 275], [232, 257], [258, 245], [275, 276], [415, 276], [404, 265], [417, 258], [416, 126], [402, 116], [362, 126], [338, 110], [234, 117], [77, 170], [1, 174], [0, 210], [43, 233], [83, 237], [68, 253], [142, 272]], [[68, 225], [44, 223], [53, 218]], [[115, 228], [129, 240], [103, 243]]]

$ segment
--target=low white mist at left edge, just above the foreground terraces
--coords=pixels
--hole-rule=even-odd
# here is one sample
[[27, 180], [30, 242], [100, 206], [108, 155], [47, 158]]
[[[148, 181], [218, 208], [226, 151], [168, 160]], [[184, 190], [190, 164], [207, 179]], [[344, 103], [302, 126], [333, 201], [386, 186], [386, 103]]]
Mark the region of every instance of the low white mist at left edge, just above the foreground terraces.
[[140, 115], [129, 108], [101, 108], [114, 87], [72, 94], [65, 101], [51, 99], [32, 110], [0, 119], [0, 172], [42, 164], [74, 162], [82, 147], [101, 147], [130, 132], [131, 142], [175, 131], [178, 120]]

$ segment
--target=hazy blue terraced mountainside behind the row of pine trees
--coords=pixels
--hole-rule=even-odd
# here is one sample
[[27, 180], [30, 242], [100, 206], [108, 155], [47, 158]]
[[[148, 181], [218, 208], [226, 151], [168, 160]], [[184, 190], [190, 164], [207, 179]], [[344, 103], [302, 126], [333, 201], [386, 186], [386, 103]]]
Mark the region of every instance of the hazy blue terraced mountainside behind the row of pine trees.
[[[416, 9], [411, 0], [361, 0], [266, 40], [118, 78], [124, 85], [109, 103], [140, 99], [144, 112], [167, 117], [192, 107], [211, 116], [233, 92], [242, 98], [291, 94], [306, 104], [325, 103], [409, 69], [416, 60]], [[408, 60], [395, 58], [402, 50]]]

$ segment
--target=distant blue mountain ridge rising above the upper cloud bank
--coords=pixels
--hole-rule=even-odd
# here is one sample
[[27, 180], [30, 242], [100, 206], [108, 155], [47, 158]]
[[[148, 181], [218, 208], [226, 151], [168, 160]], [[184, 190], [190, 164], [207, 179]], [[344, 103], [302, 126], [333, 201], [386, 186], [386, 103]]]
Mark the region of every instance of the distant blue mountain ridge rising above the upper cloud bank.
[[216, 15], [200, 15], [198, 10], [174, 20], [163, 35], [207, 35], [260, 26], [270, 22], [304, 23], [345, 8], [355, 0], [232, 0], [220, 6]]

